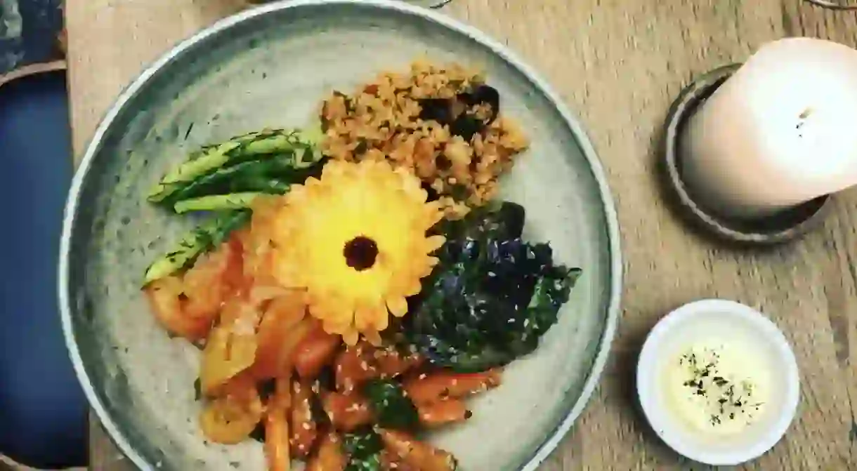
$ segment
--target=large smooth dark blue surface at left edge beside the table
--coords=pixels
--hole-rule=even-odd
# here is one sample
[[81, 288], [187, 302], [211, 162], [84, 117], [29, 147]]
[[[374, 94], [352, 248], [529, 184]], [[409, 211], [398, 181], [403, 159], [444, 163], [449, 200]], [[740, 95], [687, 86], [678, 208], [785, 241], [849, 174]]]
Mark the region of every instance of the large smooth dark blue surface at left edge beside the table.
[[87, 450], [86, 400], [57, 313], [68, 116], [63, 72], [0, 87], [0, 452], [39, 468], [81, 465]]

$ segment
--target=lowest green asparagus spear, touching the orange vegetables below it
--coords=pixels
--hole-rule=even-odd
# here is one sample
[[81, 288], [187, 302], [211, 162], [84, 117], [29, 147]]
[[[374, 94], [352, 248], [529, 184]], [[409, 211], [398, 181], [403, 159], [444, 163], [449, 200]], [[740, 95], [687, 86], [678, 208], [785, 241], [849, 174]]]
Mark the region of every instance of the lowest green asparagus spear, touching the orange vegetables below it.
[[202, 253], [223, 243], [232, 230], [247, 224], [250, 220], [250, 214], [251, 212], [247, 210], [225, 212], [218, 218], [202, 224], [188, 236], [185, 236], [176, 250], [166, 253], [163, 257], [155, 260], [152, 265], [149, 265], [143, 284], [152, 283], [159, 278], [167, 277], [176, 271], [193, 265]]

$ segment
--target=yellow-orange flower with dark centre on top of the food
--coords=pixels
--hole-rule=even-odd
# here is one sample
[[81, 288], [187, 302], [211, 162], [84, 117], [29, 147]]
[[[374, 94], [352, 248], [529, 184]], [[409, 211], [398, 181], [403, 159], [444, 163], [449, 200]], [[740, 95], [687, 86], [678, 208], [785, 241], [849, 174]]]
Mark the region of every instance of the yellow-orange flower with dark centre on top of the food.
[[274, 216], [274, 277], [306, 289], [309, 313], [346, 343], [377, 338], [437, 264], [444, 238], [426, 233], [442, 212], [427, 198], [417, 176], [385, 161], [330, 162]]

